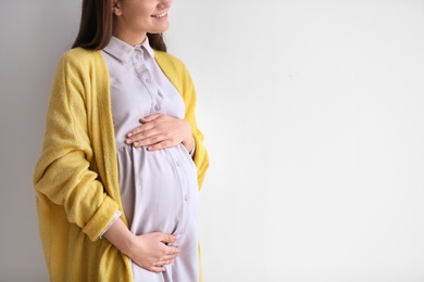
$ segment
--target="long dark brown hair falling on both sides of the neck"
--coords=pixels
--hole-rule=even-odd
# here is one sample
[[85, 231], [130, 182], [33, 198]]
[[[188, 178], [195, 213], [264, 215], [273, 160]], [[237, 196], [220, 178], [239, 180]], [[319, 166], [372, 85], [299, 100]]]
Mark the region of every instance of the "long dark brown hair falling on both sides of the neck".
[[[112, 0], [84, 0], [78, 35], [72, 48], [102, 50], [112, 37]], [[150, 46], [166, 52], [162, 34], [147, 34]]]

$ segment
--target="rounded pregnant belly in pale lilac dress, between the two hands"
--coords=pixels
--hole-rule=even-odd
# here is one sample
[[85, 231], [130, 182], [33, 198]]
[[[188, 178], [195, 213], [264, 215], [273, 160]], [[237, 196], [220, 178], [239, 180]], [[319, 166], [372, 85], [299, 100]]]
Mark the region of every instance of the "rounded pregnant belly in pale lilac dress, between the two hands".
[[135, 234], [175, 233], [197, 206], [197, 171], [183, 145], [119, 149], [124, 213]]

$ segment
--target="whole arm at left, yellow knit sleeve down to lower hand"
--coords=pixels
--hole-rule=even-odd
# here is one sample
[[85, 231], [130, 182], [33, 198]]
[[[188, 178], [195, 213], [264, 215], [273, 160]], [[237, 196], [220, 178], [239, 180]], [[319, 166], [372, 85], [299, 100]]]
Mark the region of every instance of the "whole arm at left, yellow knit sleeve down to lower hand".
[[[62, 206], [68, 222], [82, 228], [90, 240], [103, 234], [122, 253], [151, 271], [163, 271], [179, 249], [166, 246], [173, 235], [152, 233], [135, 236], [121, 218], [119, 204], [104, 191], [100, 177], [91, 169], [95, 163], [89, 134], [89, 99], [84, 74], [75, 60], [63, 56], [58, 65], [47, 114], [41, 157], [34, 174], [39, 197]], [[89, 89], [89, 88], [88, 88]], [[42, 201], [43, 205], [49, 205]]]

